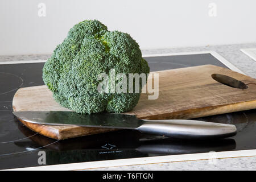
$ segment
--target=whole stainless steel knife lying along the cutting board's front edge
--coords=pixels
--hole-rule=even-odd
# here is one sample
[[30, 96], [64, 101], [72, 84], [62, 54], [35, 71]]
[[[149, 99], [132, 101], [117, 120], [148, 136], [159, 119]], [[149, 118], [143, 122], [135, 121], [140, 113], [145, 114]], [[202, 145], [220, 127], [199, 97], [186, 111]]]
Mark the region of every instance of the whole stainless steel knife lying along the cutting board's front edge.
[[14, 111], [13, 114], [23, 121], [42, 125], [131, 129], [179, 139], [226, 138], [237, 133], [234, 125], [190, 119], [146, 120], [128, 114], [79, 114], [73, 111]]

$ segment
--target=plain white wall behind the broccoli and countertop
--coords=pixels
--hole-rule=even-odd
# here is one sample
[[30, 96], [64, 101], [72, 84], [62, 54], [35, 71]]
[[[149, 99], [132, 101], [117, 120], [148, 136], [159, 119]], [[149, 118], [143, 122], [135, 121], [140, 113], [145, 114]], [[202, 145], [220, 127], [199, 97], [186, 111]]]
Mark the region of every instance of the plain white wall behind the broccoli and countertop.
[[255, 0], [1, 0], [0, 55], [51, 53], [84, 19], [128, 32], [142, 49], [256, 42], [255, 18]]

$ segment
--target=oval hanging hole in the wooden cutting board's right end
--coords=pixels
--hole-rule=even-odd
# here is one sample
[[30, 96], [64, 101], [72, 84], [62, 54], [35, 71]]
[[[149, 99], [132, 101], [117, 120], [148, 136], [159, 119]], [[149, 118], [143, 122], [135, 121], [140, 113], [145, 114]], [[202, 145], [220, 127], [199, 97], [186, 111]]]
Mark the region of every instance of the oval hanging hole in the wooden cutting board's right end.
[[237, 89], [248, 88], [248, 86], [244, 82], [237, 80], [235, 78], [232, 78], [230, 76], [221, 75], [221, 74], [212, 74], [212, 78], [217, 82], [220, 82], [221, 84], [231, 86], [233, 88], [237, 88]]

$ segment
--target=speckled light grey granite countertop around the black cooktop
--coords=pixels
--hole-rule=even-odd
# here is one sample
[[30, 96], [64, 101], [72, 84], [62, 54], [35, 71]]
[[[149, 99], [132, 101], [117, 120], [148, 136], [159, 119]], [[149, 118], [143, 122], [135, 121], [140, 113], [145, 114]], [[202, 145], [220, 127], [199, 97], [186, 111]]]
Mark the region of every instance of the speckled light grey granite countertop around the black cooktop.
[[[159, 53], [179, 53], [197, 51], [216, 51], [226, 60], [230, 61], [246, 75], [256, 78], [256, 61], [250, 59], [241, 48], [256, 48], [256, 43], [232, 44], [224, 46], [206, 46], [189, 48], [166, 48], [166, 49], [146, 49], [142, 50], [144, 55]], [[17, 55], [0, 56], [0, 61], [20, 61], [20, 60], [43, 60], [51, 55]], [[256, 156], [243, 158], [227, 158], [209, 160], [195, 160], [185, 162], [170, 162], [159, 164], [142, 164], [124, 167], [98, 168], [97, 170], [256, 170]]]

